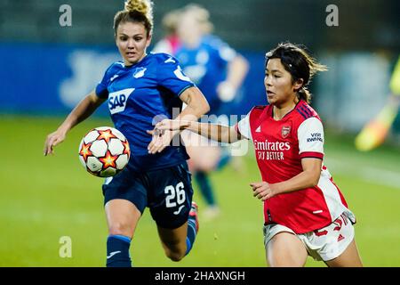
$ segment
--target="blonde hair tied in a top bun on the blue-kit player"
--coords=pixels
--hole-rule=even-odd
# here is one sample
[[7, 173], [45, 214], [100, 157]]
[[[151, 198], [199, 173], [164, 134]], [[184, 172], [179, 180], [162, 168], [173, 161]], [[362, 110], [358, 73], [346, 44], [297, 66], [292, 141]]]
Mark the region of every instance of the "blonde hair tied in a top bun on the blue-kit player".
[[153, 3], [149, 0], [127, 0], [124, 11], [116, 12], [114, 17], [114, 35], [119, 24], [124, 22], [142, 23], [148, 32], [153, 31]]

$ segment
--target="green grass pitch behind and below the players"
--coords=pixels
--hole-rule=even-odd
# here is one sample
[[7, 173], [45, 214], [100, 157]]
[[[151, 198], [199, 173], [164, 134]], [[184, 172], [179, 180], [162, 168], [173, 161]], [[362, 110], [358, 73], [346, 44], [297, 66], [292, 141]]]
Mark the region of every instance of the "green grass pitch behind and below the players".
[[[0, 266], [104, 266], [107, 239], [102, 179], [80, 165], [77, 148], [95, 126], [108, 119], [88, 119], [76, 126], [55, 156], [44, 157], [45, 135], [62, 118], [0, 116]], [[400, 266], [400, 151], [381, 147], [357, 152], [351, 137], [327, 135], [325, 164], [357, 217], [356, 241], [366, 266]], [[156, 224], [146, 210], [131, 255], [135, 266], [265, 266], [262, 204], [249, 183], [259, 181], [255, 160], [244, 170], [232, 167], [212, 174], [222, 213], [202, 221], [189, 256], [173, 263], [164, 256]], [[72, 257], [59, 255], [60, 238], [72, 240]], [[308, 258], [307, 266], [324, 266]]]

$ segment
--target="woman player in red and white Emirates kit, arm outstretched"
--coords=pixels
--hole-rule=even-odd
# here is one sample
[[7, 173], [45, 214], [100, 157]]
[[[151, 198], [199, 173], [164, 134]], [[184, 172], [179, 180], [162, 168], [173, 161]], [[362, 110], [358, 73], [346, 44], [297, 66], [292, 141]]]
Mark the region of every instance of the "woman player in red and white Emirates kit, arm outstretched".
[[328, 266], [362, 266], [356, 217], [324, 166], [324, 127], [308, 105], [307, 85], [324, 70], [300, 46], [280, 44], [266, 55], [268, 106], [254, 107], [232, 127], [182, 120], [156, 125], [158, 135], [188, 129], [219, 142], [252, 140], [262, 182], [250, 185], [264, 201], [270, 266], [304, 266], [308, 256]]

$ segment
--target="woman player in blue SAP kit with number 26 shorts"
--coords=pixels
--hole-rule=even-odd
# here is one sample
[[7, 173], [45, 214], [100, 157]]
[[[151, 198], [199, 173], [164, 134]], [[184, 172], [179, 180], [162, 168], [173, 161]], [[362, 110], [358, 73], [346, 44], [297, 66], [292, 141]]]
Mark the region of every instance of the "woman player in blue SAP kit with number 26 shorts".
[[172, 118], [172, 109], [180, 110], [182, 102], [188, 107], [177, 118], [196, 120], [209, 105], [177, 60], [165, 53], [146, 53], [153, 31], [152, 5], [148, 0], [128, 0], [124, 11], [116, 13], [116, 45], [124, 61], [111, 64], [96, 89], [44, 144], [44, 155], [51, 154], [73, 126], [108, 100], [111, 118], [130, 142], [132, 156], [124, 171], [106, 179], [102, 187], [109, 233], [107, 266], [131, 266], [129, 247], [146, 207], [156, 221], [165, 254], [173, 261], [188, 254], [198, 230], [188, 154], [182, 146], [169, 146], [179, 132], [171, 132], [155, 146], [146, 131], [156, 117]]

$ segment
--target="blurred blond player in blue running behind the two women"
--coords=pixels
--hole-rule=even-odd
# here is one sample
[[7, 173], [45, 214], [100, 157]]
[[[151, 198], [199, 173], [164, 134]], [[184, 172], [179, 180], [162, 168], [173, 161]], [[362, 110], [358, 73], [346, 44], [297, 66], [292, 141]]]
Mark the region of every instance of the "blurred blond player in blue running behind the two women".
[[[180, 61], [185, 74], [199, 87], [210, 104], [209, 115], [224, 115], [224, 124], [228, 125], [225, 107], [238, 94], [244, 77], [248, 72], [248, 62], [236, 53], [219, 37], [211, 35], [210, 13], [197, 4], [188, 4], [180, 9], [180, 20], [176, 32], [180, 39], [180, 48], [174, 54]], [[220, 117], [223, 118], [223, 117]], [[219, 120], [220, 121], [220, 120]], [[188, 165], [195, 175], [196, 183], [204, 197], [207, 208], [204, 217], [212, 218], [220, 213], [209, 173], [224, 167], [230, 159], [230, 150], [220, 148], [216, 143], [189, 132], [182, 134], [186, 143]]]

